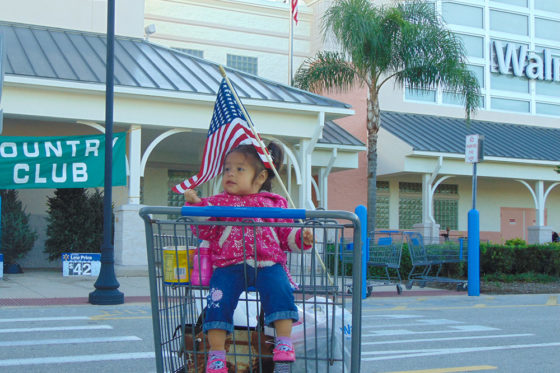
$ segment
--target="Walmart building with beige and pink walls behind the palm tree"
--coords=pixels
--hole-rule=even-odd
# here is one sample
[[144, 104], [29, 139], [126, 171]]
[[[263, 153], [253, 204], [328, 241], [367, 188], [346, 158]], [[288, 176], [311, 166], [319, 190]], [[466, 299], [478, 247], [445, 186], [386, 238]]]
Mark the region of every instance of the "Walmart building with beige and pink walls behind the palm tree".
[[[296, 68], [317, 50], [336, 48], [321, 35], [320, 20], [332, 1], [299, 3]], [[486, 158], [478, 165], [481, 238], [548, 241], [552, 230], [560, 230], [555, 208], [560, 177], [554, 171], [560, 156], [553, 146], [560, 141], [560, 5], [547, 0], [433, 4], [463, 41], [469, 68], [480, 82], [481, 108], [468, 127], [461, 102], [441, 89], [413, 92], [391, 83], [382, 89], [378, 228], [420, 229], [437, 236], [449, 227], [452, 236], [465, 235], [472, 165], [464, 162], [464, 143], [476, 129], [486, 137]], [[145, 19], [145, 25], [155, 25], [152, 40], [222, 63], [233, 64], [232, 56], [239, 56], [251, 61], [253, 73], [287, 82], [282, 77], [289, 62], [289, 8], [282, 1], [147, 0]], [[365, 90], [328, 95], [352, 105], [355, 115], [336, 123], [365, 143]], [[422, 146], [416, 141], [419, 133], [411, 129], [419, 125], [425, 129], [419, 132]], [[524, 135], [505, 136], [509, 129]], [[535, 138], [526, 141], [525, 133]], [[329, 176], [329, 208], [351, 210], [365, 204], [365, 169], [364, 152], [358, 169]]]

